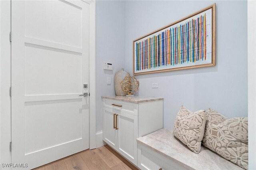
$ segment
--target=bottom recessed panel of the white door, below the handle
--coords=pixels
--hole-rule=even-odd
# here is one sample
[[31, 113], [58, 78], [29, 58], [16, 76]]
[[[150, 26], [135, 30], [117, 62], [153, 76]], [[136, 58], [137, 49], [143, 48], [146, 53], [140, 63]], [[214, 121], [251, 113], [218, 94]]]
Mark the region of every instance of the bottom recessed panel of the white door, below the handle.
[[82, 99], [25, 102], [25, 154], [82, 139], [81, 105]]

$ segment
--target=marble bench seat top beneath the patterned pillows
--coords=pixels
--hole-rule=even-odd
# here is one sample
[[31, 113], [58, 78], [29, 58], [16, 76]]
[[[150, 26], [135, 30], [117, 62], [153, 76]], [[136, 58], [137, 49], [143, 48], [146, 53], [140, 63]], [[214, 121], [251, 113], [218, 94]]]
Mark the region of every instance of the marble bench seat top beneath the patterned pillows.
[[137, 142], [187, 169], [244, 170], [204, 146], [201, 146], [199, 154], [194, 153], [173, 136], [172, 130], [165, 128], [140, 137]]

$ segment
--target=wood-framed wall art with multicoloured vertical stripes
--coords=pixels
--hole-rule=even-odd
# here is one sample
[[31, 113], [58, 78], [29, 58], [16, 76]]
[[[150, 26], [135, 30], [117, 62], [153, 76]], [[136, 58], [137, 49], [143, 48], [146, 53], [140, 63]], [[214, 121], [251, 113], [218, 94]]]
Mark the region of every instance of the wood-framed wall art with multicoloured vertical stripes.
[[215, 65], [215, 4], [133, 41], [133, 74]]

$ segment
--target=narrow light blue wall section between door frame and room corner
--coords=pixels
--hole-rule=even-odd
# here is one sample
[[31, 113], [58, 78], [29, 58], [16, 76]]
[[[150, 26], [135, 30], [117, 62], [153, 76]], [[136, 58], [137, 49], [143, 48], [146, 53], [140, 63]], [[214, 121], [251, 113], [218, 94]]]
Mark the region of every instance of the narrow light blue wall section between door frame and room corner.
[[[124, 68], [124, 2], [96, 1], [96, 131], [102, 130], [102, 95], [115, 95], [114, 74]], [[110, 62], [114, 70], [104, 70]], [[106, 77], [111, 78], [107, 85]]]

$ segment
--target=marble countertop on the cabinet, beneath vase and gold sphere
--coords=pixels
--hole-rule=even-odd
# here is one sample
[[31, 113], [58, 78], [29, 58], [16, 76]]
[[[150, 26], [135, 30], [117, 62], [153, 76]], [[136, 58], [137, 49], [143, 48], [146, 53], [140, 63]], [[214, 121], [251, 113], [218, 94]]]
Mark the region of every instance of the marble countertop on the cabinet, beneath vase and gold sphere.
[[134, 97], [126, 97], [126, 96], [102, 96], [102, 99], [113, 99], [118, 101], [126, 101], [130, 103], [144, 103], [149, 101], [158, 101], [158, 100], [164, 100], [164, 98], [159, 97], [140, 97], [140, 96], [134, 96]]

